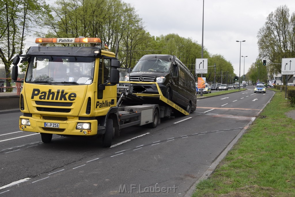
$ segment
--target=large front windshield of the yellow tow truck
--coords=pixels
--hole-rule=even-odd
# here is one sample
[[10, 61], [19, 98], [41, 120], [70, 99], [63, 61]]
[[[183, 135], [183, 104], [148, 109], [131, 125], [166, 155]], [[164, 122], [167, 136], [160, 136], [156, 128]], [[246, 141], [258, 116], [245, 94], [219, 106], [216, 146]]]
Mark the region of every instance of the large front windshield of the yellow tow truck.
[[91, 84], [95, 58], [32, 56], [25, 82], [62, 85]]

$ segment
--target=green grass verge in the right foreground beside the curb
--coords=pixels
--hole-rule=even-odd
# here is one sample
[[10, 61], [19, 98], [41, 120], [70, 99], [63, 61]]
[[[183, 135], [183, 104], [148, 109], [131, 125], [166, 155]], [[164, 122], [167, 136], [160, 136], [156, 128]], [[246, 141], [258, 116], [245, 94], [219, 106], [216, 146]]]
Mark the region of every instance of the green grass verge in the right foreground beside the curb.
[[[271, 91], [271, 90], [267, 90]], [[276, 94], [193, 196], [295, 196], [295, 120]]]

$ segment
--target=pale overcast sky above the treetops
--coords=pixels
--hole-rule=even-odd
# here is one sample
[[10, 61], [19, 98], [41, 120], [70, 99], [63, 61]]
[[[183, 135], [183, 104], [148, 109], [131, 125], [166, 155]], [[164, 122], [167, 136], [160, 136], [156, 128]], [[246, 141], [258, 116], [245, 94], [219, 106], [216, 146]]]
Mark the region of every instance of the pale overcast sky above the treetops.
[[[135, 7], [153, 36], [176, 33], [202, 43], [203, 0], [122, 0]], [[258, 57], [257, 32], [266, 17], [281, 5], [295, 12], [294, 0], [204, 0], [204, 48], [220, 54], [239, 76], [241, 56], [245, 57], [245, 74]], [[201, 58], [201, 57], [199, 57]], [[212, 65], [208, 65], [212, 66]], [[244, 58], [241, 57], [241, 76]]]

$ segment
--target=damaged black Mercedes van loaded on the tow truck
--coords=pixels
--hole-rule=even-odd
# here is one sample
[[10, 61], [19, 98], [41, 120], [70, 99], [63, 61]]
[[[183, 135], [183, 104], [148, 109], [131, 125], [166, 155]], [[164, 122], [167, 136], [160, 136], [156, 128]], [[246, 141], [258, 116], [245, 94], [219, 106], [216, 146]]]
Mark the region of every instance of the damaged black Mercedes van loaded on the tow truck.
[[[188, 113], [196, 110], [195, 78], [172, 55], [145, 55], [124, 78], [130, 82], [157, 82], [162, 94]], [[132, 93], [158, 94], [155, 84], [133, 87]]]

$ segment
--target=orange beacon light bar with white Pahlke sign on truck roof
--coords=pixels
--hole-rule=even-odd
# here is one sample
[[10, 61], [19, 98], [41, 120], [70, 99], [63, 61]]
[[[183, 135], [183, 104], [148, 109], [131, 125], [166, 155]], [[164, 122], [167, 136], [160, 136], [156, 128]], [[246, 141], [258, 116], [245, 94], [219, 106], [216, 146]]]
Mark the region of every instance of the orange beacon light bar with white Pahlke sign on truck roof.
[[73, 43], [90, 43], [101, 44], [100, 38], [36, 38], [35, 43], [39, 44], [73, 44]]

